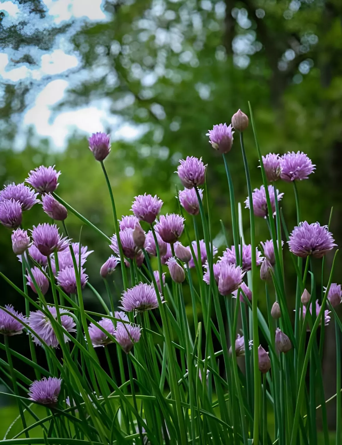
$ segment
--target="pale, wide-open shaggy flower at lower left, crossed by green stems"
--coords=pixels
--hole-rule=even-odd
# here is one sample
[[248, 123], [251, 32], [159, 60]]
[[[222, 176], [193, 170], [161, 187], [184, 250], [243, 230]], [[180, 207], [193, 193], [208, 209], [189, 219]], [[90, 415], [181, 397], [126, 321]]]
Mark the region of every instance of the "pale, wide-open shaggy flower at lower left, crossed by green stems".
[[[48, 306], [48, 311], [51, 313], [53, 318], [57, 320], [57, 310], [54, 306]], [[59, 309], [59, 312], [62, 314], [69, 313], [66, 309]], [[63, 328], [68, 332], [76, 332], [73, 318], [69, 315], [61, 315], [60, 321]], [[44, 314], [42, 311], [30, 312], [28, 317], [28, 326], [34, 331], [31, 333], [33, 337], [33, 341], [36, 344], [41, 345], [40, 340], [36, 337], [38, 335], [48, 346], [52, 346], [52, 348], [57, 348], [58, 340], [55, 334], [55, 331], [52, 328], [52, 324], [50, 319]], [[35, 335], [36, 334], [36, 335]], [[64, 334], [64, 341], [69, 341], [68, 336]]]

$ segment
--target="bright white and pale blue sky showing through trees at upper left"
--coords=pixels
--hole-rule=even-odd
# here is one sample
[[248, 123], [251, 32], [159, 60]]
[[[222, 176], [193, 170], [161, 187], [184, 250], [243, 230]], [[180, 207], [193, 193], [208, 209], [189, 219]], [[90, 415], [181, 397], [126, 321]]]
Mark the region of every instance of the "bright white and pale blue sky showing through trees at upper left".
[[[43, 26], [60, 24], [64, 20], [77, 18], [76, 28], [84, 20], [107, 20], [106, 14], [101, 8], [102, 0], [44, 0], [48, 9]], [[27, 18], [25, 7], [16, 0], [0, 0], [0, 11], [5, 13], [4, 27]], [[30, 17], [31, 19], [31, 17]], [[41, 22], [41, 21], [40, 21]], [[30, 25], [28, 25], [29, 27]], [[33, 27], [36, 24], [32, 25]], [[40, 26], [42, 26], [40, 24]], [[33, 30], [32, 27], [32, 30]], [[30, 32], [30, 29], [27, 30]], [[75, 28], [72, 32], [75, 32]], [[11, 59], [19, 59], [20, 53], [31, 53], [35, 60], [40, 60], [38, 67], [32, 68], [28, 64], [15, 65]], [[20, 116], [20, 132], [16, 138], [14, 149], [21, 150], [26, 142], [26, 132], [29, 126], [33, 126], [36, 140], [48, 138], [50, 146], [55, 150], [63, 150], [68, 142], [68, 136], [75, 132], [91, 134], [97, 131], [105, 131], [108, 127], [113, 129], [113, 139], [134, 139], [141, 134], [141, 129], [132, 127], [119, 120], [109, 112], [110, 102], [106, 99], [94, 101], [88, 106], [79, 109], [64, 110], [54, 113], [53, 107], [58, 104], [66, 94], [69, 80], [65, 75], [77, 69], [79, 59], [72, 51], [67, 36], [59, 36], [54, 48], [49, 53], [36, 48], [12, 51], [0, 50], [0, 77], [6, 82], [17, 83], [19, 81], [37, 81], [36, 88], [28, 95], [27, 108]], [[51, 81], [45, 80], [53, 77]], [[39, 81], [39, 82], [38, 82]]]

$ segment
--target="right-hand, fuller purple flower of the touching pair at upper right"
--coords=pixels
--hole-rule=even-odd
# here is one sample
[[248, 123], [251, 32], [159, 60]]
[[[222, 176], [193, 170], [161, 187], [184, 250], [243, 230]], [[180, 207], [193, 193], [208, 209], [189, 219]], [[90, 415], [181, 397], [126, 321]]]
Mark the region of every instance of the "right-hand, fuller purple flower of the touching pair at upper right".
[[314, 170], [316, 168], [311, 159], [300, 151], [297, 153], [289, 151], [283, 154], [280, 160], [280, 177], [286, 182], [307, 179]]

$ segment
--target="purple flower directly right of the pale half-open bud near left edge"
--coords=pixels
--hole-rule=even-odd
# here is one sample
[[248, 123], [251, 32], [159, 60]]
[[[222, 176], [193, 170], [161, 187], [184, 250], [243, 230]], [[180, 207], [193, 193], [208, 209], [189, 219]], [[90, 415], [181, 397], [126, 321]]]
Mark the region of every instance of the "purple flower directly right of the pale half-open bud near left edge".
[[38, 224], [32, 230], [33, 244], [42, 255], [49, 256], [54, 251], [63, 251], [69, 245], [69, 240], [61, 238], [56, 224]]

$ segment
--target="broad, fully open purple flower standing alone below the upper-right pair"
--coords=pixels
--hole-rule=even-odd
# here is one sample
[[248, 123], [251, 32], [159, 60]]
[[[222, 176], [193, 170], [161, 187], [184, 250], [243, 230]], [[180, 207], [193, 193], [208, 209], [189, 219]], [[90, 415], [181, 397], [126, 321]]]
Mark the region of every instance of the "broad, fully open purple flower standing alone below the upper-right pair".
[[319, 223], [309, 224], [304, 221], [294, 227], [288, 243], [290, 251], [296, 256], [306, 258], [312, 255], [314, 258], [322, 258], [336, 246], [334, 241], [327, 226], [321, 226]]

